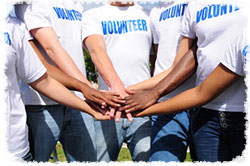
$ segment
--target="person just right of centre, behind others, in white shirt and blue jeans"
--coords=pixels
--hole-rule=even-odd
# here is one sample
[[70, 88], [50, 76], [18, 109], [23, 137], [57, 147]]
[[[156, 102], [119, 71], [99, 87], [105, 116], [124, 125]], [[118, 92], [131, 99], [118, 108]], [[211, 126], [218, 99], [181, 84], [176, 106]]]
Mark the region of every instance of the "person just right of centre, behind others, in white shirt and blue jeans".
[[[181, 34], [181, 18], [188, 5], [188, 0], [162, 1], [151, 10], [153, 42], [157, 58], [154, 76], [168, 69], [173, 64]], [[194, 87], [194, 76], [181, 87], [163, 96], [158, 101], [167, 100], [180, 92]], [[145, 88], [144, 83], [131, 85], [130, 90]], [[147, 88], [152, 88], [153, 84]], [[152, 141], [150, 161], [181, 161], [186, 158], [189, 134], [189, 110], [178, 114], [152, 116]]]

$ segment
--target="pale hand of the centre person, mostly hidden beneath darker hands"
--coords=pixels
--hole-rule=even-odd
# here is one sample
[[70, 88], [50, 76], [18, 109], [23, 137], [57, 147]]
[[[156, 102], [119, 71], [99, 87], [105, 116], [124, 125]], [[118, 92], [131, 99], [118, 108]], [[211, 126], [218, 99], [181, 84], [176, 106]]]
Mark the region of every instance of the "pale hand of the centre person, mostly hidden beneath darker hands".
[[[122, 88], [117, 88], [117, 87], [115, 88], [115, 87], [112, 87], [112, 88], [110, 89], [110, 91], [112, 91], [112, 92], [118, 92], [122, 97], [126, 97], [126, 96], [129, 95], [129, 94], [127, 93], [127, 91], [125, 90], [124, 87], [122, 87]], [[121, 112], [121, 111], [116, 111], [116, 112], [115, 112], [115, 109], [112, 109], [112, 110], [110, 111], [110, 114], [111, 114], [111, 116], [112, 116], [112, 115], [114, 116], [114, 114], [115, 114], [115, 121], [116, 121], [116, 122], [119, 122], [119, 121], [120, 121], [121, 116], [122, 116], [122, 112]], [[133, 117], [132, 117], [132, 115], [131, 115], [130, 113], [126, 113], [126, 117], [127, 117], [127, 119], [128, 119], [130, 122], [133, 121]]]

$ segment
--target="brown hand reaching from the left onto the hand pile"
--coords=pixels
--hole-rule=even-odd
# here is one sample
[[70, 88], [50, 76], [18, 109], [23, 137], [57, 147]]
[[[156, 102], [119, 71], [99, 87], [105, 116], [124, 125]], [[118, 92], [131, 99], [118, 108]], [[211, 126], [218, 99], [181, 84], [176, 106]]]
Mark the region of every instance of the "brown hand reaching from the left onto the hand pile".
[[103, 108], [107, 105], [120, 107], [120, 104], [125, 103], [124, 98], [117, 92], [99, 91], [91, 87], [86, 88], [85, 86], [82, 93], [87, 100], [98, 103], [102, 105]]

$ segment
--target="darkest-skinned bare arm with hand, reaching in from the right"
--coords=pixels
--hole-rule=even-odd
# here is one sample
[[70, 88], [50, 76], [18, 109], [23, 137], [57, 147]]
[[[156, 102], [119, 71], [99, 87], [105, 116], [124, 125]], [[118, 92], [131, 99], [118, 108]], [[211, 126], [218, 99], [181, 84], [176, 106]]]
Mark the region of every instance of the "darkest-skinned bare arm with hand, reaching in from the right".
[[196, 70], [196, 46], [190, 49], [178, 62], [174, 69], [155, 87], [138, 90], [134, 95], [125, 98], [125, 106], [121, 111], [133, 112], [153, 105], [160, 96], [170, 93], [188, 79]]

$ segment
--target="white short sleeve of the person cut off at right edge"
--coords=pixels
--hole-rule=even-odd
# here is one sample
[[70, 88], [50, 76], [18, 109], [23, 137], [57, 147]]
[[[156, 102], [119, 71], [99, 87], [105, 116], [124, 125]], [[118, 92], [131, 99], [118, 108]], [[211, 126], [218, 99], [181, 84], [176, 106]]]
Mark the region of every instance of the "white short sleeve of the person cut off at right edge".
[[244, 76], [244, 54], [246, 53], [247, 45], [243, 44], [243, 34], [240, 33], [236, 40], [229, 45], [224, 55], [220, 56], [220, 62], [232, 72]]

